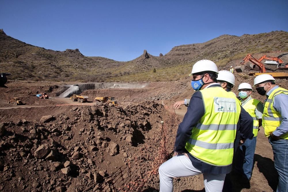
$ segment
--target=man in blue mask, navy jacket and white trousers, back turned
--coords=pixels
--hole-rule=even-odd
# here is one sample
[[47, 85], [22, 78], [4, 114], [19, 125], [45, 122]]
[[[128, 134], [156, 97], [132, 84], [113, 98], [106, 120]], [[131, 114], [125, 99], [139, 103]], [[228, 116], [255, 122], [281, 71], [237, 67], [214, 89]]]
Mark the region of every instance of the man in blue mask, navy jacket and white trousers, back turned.
[[238, 125], [252, 138], [252, 117], [238, 99], [217, 83], [218, 69], [210, 60], [192, 68], [191, 86], [196, 92], [179, 124], [174, 154], [159, 167], [160, 191], [173, 191], [173, 177], [203, 174], [206, 191], [220, 192], [232, 170], [234, 139]]

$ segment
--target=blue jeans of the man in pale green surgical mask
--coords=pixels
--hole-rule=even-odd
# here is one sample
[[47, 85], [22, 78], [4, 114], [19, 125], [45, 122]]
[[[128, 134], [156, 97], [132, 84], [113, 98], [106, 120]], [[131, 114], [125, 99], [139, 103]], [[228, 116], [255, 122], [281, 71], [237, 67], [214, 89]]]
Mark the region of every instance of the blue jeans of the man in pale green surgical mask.
[[256, 141], [257, 137], [246, 139], [238, 151], [236, 170], [246, 176], [248, 180], [250, 180], [252, 174]]

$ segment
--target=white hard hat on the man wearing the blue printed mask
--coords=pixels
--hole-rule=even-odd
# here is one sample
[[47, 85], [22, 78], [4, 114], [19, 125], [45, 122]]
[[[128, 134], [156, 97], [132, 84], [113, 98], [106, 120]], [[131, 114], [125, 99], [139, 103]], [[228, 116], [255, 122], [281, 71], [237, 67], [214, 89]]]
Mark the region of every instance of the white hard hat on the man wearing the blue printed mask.
[[200, 60], [197, 61], [193, 67], [192, 67], [192, 72], [189, 76], [192, 76], [193, 73], [200, 73], [203, 71], [213, 71], [216, 74], [218, 74], [218, 68], [217, 65], [210, 60], [204, 59], [204, 60]]

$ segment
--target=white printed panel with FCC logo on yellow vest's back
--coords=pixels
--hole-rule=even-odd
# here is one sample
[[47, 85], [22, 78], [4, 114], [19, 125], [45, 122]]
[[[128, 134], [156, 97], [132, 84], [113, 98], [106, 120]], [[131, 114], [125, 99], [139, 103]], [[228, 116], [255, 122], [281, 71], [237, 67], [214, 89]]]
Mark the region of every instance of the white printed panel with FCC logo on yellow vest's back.
[[214, 97], [214, 112], [236, 113], [235, 99], [225, 97]]

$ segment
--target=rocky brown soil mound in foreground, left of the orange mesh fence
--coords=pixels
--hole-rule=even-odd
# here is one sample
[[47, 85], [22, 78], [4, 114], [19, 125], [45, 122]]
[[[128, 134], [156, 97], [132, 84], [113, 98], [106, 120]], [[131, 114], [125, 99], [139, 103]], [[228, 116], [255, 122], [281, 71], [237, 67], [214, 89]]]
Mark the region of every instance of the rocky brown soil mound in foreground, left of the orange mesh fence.
[[155, 102], [43, 109], [53, 116], [18, 120], [38, 109], [13, 110], [12, 117], [1, 110], [1, 191], [83, 191], [125, 165], [165, 118]]

